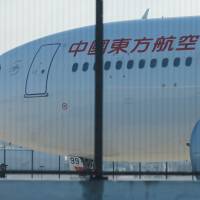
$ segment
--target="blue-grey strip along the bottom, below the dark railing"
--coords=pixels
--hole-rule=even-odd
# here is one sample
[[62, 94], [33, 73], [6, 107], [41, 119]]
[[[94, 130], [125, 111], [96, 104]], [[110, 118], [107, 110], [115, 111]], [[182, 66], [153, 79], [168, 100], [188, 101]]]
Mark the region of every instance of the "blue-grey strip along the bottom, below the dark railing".
[[4, 200], [199, 200], [197, 181], [0, 181]]

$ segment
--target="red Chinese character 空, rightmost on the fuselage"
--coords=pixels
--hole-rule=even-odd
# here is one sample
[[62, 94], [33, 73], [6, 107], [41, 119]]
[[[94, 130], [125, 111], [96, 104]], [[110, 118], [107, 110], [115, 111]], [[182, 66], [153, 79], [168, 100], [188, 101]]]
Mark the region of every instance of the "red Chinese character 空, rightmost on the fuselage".
[[194, 50], [195, 45], [198, 42], [199, 35], [185, 35], [180, 37], [178, 51]]

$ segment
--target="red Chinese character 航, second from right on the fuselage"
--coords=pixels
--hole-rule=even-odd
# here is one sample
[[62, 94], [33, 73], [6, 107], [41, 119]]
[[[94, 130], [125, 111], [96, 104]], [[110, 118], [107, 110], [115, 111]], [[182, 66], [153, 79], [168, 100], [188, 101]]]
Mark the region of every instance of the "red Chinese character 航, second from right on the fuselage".
[[173, 48], [173, 43], [176, 37], [170, 36], [170, 37], [164, 37], [161, 36], [160, 38], [157, 38], [154, 47], [153, 47], [153, 52], [159, 52], [159, 51], [172, 51]]

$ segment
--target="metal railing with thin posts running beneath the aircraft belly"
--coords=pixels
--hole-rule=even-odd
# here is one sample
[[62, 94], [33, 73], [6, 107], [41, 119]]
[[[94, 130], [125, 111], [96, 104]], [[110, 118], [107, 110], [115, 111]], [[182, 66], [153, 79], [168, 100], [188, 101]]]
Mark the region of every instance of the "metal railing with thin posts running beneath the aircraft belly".
[[[24, 149], [0, 149], [0, 164], [7, 166], [6, 174], [16, 175], [89, 175], [93, 176], [94, 171], [77, 172], [69, 169], [69, 161], [64, 156], [52, 156], [49, 154], [35, 152]], [[200, 172], [193, 172], [191, 163], [185, 161], [162, 162], [162, 163], [120, 163], [104, 162], [103, 176], [137, 176], [142, 179], [143, 176], [162, 176], [162, 179], [168, 179], [169, 176], [185, 177], [200, 176]]]

